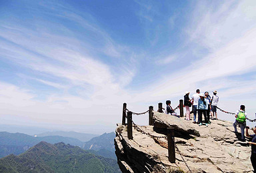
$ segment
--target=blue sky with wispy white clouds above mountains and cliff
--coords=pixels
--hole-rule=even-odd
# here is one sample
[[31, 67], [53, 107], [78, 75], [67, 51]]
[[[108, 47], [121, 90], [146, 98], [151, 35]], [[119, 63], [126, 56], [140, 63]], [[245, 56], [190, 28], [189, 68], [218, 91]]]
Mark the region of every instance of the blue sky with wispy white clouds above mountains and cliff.
[[[0, 118], [111, 132], [186, 90], [254, 118], [255, 1], [1, 1]], [[225, 120], [233, 117], [219, 114]], [[147, 124], [147, 117], [135, 118]], [[102, 126], [102, 128], [97, 128]]]

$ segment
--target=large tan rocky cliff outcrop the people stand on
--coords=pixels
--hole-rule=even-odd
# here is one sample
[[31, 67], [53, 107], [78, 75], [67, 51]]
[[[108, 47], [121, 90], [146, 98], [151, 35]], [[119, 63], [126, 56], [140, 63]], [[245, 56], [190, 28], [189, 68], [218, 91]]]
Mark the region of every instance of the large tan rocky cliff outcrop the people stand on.
[[213, 120], [208, 127], [198, 126], [159, 112], [154, 112], [153, 120], [154, 126], [139, 128], [159, 137], [165, 136], [167, 127], [175, 128], [176, 162], [168, 160], [167, 138], [151, 138], [133, 128], [129, 140], [127, 126], [118, 124], [115, 153], [122, 172], [190, 172], [187, 166], [191, 172], [253, 172], [251, 146], [239, 140], [231, 122]]

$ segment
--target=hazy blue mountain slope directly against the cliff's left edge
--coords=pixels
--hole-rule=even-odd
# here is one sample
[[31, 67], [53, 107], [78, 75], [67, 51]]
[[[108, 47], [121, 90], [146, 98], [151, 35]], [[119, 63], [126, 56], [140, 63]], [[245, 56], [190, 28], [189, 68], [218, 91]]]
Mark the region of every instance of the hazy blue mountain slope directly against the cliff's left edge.
[[115, 133], [104, 133], [101, 136], [92, 138], [88, 142], [85, 142], [83, 149], [94, 150], [91, 151], [94, 154], [104, 156], [106, 158], [117, 159], [115, 156], [115, 145], [114, 145]]

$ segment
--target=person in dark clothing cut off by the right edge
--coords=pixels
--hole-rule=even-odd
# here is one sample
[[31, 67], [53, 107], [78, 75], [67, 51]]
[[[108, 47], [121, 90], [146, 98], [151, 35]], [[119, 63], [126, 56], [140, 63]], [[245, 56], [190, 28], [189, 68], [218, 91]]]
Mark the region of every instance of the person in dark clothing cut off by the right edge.
[[251, 144], [251, 164], [253, 165], [253, 172], [256, 172], [256, 126], [253, 128], [255, 134], [249, 135], [248, 128], [249, 126], [246, 126], [245, 135], [248, 138], [252, 138], [251, 142], [248, 143]]

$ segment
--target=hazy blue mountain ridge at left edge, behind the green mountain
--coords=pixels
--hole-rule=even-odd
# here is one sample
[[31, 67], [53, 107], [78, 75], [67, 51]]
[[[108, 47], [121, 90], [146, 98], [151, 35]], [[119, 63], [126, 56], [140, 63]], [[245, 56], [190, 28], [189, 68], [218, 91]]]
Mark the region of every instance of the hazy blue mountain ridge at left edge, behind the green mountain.
[[22, 133], [0, 132], [0, 158], [9, 154], [21, 154], [41, 141], [51, 144], [65, 142], [75, 146], [83, 146], [84, 144], [78, 139], [63, 136], [33, 137]]

